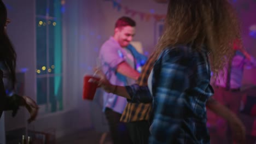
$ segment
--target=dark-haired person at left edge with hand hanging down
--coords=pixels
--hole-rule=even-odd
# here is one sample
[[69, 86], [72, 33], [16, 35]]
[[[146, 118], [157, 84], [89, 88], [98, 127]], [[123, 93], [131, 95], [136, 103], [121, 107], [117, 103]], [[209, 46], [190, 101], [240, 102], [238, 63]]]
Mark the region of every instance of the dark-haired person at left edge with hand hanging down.
[[16, 53], [5, 29], [9, 22], [7, 9], [0, 1], [0, 118], [3, 111], [13, 110], [15, 116], [19, 106], [25, 106], [31, 115], [28, 119], [30, 123], [37, 117], [38, 106], [31, 98], [13, 93], [16, 82]]

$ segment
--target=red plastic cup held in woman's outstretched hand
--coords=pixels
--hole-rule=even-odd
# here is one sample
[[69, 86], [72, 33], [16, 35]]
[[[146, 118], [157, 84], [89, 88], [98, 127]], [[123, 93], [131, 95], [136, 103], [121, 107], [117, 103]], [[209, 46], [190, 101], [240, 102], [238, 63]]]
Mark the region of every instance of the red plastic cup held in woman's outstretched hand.
[[90, 79], [99, 81], [100, 78], [91, 75], [84, 76], [83, 99], [94, 100], [94, 95], [98, 87], [97, 83], [89, 82]]

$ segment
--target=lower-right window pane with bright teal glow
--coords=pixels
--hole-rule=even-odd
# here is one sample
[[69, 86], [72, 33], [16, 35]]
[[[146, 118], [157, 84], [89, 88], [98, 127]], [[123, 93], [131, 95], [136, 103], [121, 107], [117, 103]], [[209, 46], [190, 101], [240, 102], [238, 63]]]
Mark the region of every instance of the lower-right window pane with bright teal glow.
[[49, 83], [49, 100], [51, 105], [51, 112], [60, 111], [63, 109], [62, 105], [62, 76], [50, 77]]

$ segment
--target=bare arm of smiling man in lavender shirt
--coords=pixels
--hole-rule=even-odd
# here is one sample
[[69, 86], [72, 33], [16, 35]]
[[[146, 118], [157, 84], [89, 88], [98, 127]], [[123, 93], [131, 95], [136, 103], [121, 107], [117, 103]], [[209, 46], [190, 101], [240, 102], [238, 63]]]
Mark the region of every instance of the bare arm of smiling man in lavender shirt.
[[118, 64], [117, 66], [117, 72], [126, 76], [126, 77], [129, 77], [133, 80], [137, 80], [138, 77], [139, 77], [139, 73], [137, 70], [133, 69], [128, 63], [126, 63], [125, 61], [124, 62], [121, 62], [120, 64]]

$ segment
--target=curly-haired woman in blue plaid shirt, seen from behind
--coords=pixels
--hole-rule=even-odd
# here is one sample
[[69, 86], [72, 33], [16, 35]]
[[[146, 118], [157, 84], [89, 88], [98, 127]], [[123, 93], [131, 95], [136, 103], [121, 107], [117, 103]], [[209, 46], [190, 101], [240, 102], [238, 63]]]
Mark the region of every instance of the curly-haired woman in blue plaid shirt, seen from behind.
[[[211, 70], [217, 77], [234, 55], [230, 47], [237, 38], [239, 26], [228, 1], [169, 1], [165, 31], [148, 78], [153, 98], [149, 143], [210, 143], [206, 102], [213, 95]], [[129, 98], [136, 87], [125, 87], [124, 97]], [[143, 102], [150, 94], [134, 99]], [[239, 142], [244, 142], [243, 136]]]

